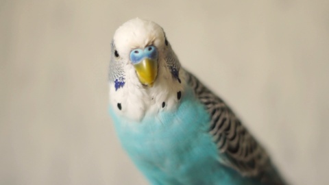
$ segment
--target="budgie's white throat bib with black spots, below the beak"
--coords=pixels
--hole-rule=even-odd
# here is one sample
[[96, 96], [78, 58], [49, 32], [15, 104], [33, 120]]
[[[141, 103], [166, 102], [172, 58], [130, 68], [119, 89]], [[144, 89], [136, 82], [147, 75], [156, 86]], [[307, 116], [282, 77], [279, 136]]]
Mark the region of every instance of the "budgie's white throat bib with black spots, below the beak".
[[180, 79], [173, 77], [167, 66], [160, 65], [153, 87], [143, 86], [130, 70], [125, 75], [125, 84], [116, 88], [110, 82], [110, 106], [119, 114], [132, 121], [140, 121], [145, 116], [154, 116], [161, 111], [177, 108], [184, 94], [185, 72], [179, 71]]

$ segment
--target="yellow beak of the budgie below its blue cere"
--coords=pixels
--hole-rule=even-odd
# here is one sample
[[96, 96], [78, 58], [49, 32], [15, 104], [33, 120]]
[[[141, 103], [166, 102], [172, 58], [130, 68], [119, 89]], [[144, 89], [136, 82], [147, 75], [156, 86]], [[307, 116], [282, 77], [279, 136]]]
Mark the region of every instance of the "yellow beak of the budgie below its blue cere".
[[158, 62], [149, 58], [144, 58], [138, 64], [134, 64], [139, 81], [152, 87], [158, 75]]

